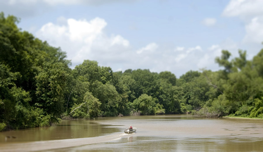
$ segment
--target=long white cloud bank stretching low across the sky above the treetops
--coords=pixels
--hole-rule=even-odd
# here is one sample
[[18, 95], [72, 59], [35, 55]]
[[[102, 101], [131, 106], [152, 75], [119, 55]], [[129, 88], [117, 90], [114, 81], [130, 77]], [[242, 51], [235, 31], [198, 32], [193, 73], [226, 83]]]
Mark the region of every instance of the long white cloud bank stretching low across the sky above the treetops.
[[100, 66], [110, 66], [113, 71], [150, 69], [153, 72], [171, 71], [176, 76], [204, 67], [217, 69], [214, 58], [221, 55], [222, 46], [231, 46], [226, 43], [207, 49], [199, 45], [167, 48], [149, 42], [136, 48], [120, 34], [106, 34], [106, 27], [107, 22], [103, 18], [76, 20], [60, 17], [57, 23], [44, 24], [37, 30], [36, 36], [67, 52], [72, 68], [89, 59], [97, 61]]

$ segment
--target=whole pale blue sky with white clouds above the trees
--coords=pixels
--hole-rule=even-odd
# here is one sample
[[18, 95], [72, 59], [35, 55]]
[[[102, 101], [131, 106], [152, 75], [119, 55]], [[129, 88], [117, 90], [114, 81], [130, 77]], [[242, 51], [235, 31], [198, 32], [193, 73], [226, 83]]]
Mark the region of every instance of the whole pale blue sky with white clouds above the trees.
[[262, 49], [262, 0], [1, 0], [18, 27], [67, 52], [74, 69], [95, 60], [113, 71], [222, 69], [222, 49], [251, 60]]

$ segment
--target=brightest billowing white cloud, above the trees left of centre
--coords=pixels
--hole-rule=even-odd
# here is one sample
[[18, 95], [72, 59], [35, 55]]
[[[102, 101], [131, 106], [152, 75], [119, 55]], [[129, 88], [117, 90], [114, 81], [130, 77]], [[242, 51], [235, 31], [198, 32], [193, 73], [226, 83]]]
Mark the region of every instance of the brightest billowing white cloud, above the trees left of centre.
[[[72, 64], [81, 64], [84, 59], [110, 59], [120, 57], [129, 47], [129, 41], [120, 35], [107, 36], [103, 29], [107, 23], [102, 18], [90, 21], [66, 19], [65, 25], [47, 23], [36, 33], [37, 37], [46, 40], [50, 45], [61, 47], [67, 52]], [[110, 54], [110, 55], [109, 55]]]

